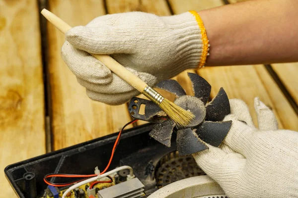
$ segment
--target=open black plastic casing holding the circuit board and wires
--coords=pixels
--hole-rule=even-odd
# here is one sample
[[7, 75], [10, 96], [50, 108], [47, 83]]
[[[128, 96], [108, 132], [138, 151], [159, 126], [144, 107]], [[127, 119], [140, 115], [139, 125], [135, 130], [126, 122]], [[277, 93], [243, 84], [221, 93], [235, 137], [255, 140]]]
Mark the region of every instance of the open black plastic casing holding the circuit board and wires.
[[[131, 166], [148, 194], [157, 190], [152, 165], [155, 167], [160, 158], [177, 149], [175, 133], [170, 148], [150, 138], [149, 132], [154, 126], [146, 124], [123, 131], [109, 168], [112, 170], [122, 165]], [[5, 176], [19, 198], [42, 197], [47, 188], [43, 181], [46, 174], [94, 174], [96, 166], [103, 170], [110, 159], [117, 136], [118, 133], [114, 133], [8, 165], [4, 169]], [[52, 178], [51, 182], [65, 180]]]

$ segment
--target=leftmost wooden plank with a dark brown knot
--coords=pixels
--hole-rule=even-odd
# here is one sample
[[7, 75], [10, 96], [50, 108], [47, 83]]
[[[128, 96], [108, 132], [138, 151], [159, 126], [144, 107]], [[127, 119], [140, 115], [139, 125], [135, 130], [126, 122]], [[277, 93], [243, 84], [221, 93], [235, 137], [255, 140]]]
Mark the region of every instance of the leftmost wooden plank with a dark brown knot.
[[0, 0], [0, 50], [0, 197], [12, 198], [4, 168], [46, 152], [36, 0]]

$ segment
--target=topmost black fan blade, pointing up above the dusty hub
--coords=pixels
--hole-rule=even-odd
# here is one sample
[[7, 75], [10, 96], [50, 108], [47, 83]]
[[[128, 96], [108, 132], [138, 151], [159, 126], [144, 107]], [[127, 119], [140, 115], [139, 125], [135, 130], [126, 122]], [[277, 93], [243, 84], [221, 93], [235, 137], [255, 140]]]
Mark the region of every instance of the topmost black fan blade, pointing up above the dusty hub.
[[206, 104], [210, 97], [211, 85], [198, 74], [187, 74], [192, 82], [195, 97], [201, 99], [204, 102], [204, 104]]

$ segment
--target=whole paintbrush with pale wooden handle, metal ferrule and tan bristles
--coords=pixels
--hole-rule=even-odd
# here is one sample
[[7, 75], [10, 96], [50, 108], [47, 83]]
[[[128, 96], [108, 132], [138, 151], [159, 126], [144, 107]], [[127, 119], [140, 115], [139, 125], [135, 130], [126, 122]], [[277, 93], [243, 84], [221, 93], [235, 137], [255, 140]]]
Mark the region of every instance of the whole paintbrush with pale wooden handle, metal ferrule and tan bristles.
[[[63, 34], [69, 31], [72, 27], [69, 26], [62, 19], [57, 17], [52, 12], [47, 9], [43, 9], [41, 14], [44, 15], [57, 29], [59, 29]], [[99, 54], [91, 54], [98, 60], [100, 60], [107, 68], [109, 68], [112, 72], [122, 78], [124, 81], [129, 83], [147, 98], [149, 98], [152, 102], [157, 104], [170, 119], [174, 121], [177, 126], [185, 127], [187, 126], [192, 119], [194, 119], [194, 114], [190, 111], [187, 111], [177, 104], [165, 99], [158, 92], [156, 92], [153, 88], [149, 87], [144, 81], [142, 81], [135, 74], [131, 73], [128, 69], [118, 63], [109, 55], [99, 55]]]

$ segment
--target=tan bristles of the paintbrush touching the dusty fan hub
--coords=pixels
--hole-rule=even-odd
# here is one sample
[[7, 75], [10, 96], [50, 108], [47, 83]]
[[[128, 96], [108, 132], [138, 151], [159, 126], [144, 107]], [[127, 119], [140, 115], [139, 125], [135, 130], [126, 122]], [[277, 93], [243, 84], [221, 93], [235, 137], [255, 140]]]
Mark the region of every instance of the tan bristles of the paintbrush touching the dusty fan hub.
[[190, 111], [181, 108], [168, 99], [163, 99], [159, 107], [180, 127], [186, 127], [195, 118]]

